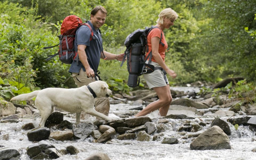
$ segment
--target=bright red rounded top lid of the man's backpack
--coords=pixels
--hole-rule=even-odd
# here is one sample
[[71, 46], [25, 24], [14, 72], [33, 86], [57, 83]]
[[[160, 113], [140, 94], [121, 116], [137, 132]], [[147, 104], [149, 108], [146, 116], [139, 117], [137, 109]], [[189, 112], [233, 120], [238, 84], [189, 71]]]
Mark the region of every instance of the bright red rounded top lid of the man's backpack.
[[76, 15], [67, 16], [60, 27], [61, 35], [74, 35], [78, 26], [83, 23]]

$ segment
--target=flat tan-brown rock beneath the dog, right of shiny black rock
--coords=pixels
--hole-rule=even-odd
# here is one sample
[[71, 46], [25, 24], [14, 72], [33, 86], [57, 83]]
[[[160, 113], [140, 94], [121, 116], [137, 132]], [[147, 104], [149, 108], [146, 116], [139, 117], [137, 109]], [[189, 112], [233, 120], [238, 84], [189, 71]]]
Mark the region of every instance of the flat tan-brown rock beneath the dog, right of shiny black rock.
[[74, 134], [71, 130], [64, 130], [64, 131], [56, 131], [50, 134], [50, 138], [53, 138], [57, 141], [69, 141], [73, 138]]

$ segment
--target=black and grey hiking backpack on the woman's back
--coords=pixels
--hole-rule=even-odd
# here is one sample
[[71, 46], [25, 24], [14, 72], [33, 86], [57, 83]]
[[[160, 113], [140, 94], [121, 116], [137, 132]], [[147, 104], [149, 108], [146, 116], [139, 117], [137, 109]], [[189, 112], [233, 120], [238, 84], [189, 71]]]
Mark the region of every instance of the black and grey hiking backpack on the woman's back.
[[[140, 84], [140, 77], [144, 72], [145, 66], [153, 67], [150, 64], [152, 58], [152, 51], [146, 57], [146, 60], [149, 58], [149, 63], [145, 64], [145, 53], [148, 52], [149, 47], [147, 45], [147, 35], [149, 32], [158, 28], [157, 26], [146, 27], [145, 29], [137, 29], [133, 33], [127, 36], [124, 41], [124, 45], [126, 46], [126, 50], [124, 51], [124, 58], [121, 63], [121, 67], [123, 66], [124, 60], [127, 57], [127, 70], [129, 72], [128, 83], [129, 87], [136, 87]], [[160, 29], [160, 28], [159, 28]], [[161, 42], [162, 33], [160, 38], [160, 44], [164, 46]], [[153, 70], [152, 70], [153, 72]]]

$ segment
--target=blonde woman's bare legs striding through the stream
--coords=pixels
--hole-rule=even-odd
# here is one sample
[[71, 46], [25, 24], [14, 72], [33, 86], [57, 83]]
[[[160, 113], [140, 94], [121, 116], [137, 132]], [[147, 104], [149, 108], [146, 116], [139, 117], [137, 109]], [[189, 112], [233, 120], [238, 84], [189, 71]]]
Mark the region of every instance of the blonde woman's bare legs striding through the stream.
[[147, 115], [159, 108], [160, 115], [166, 116], [172, 100], [170, 85], [167, 84], [163, 87], [154, 87], [153, 89], [156, 92], [159, 100], [150, 103], [146, 108], [144, 108], [142, 111], [136, 114], [135, 117]]

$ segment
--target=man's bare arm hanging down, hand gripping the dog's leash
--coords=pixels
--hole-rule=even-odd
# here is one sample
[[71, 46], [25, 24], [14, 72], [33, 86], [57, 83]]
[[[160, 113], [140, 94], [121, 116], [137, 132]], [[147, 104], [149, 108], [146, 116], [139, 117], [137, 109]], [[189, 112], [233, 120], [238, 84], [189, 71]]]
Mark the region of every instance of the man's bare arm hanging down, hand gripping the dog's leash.
[[85, 53], [86, 45], [78, 45], [77, 49], [78, 49], [77, 52], [78, 52], [79, 59], [83, 64], [83, 66], [85, 67], [87, 77], [91, 77], [91, 76], [94, 77], [95, 76], [94, 71], [93, 69], [91, 69]]

